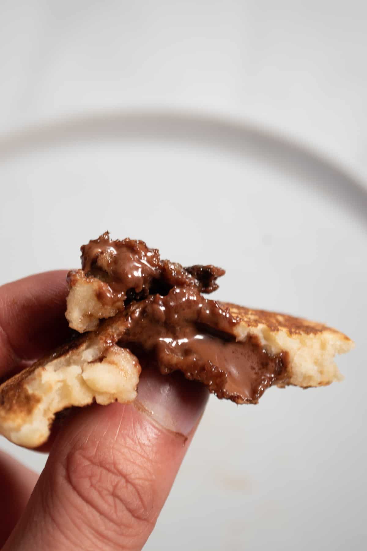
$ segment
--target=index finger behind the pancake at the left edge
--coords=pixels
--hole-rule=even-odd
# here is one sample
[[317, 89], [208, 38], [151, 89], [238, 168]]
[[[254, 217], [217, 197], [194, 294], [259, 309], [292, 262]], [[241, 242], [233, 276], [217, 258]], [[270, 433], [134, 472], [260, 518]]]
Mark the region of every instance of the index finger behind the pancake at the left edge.
[[70, 334], [64, 316], [66, 274], [44, 272], [0, 287], [0, 378], [23, 369]]

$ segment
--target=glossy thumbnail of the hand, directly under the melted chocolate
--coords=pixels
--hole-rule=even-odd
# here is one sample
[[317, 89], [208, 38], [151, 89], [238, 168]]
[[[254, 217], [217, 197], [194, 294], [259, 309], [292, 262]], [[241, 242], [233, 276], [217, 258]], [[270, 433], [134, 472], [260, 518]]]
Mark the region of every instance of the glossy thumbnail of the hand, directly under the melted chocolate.
[[182, 373], [161, 375], [157, 369], [141, 371], [136, 406], [163, 428], [189, 436], [204, 412], [209, 392]]

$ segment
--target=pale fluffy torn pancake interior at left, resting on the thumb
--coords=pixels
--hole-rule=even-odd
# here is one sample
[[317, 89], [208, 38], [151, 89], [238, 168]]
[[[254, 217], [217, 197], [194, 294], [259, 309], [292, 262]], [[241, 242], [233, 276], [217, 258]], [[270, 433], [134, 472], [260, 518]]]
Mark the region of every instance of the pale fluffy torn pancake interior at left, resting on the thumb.
[[37, 447], [50, 436], [57, 412], [92, 402], [132, 402], [140, 364], [127, 349], [86, 340], [79, 348], [36, 363], [0, 387], [0, 432], [10, 441]]

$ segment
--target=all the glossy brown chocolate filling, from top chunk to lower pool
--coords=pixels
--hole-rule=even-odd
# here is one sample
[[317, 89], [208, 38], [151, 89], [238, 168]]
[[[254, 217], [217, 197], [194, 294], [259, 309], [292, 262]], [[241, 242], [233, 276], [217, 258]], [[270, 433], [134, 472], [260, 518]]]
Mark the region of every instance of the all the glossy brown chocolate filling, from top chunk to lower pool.
[[217, 289], [221, 268], [183, 268], [161, 260], [144, 241], [111, 241], [108, 233], [81, 252], [86, 277], [106, 283], [98, 300], [122, 304], [126, 323], [118, 344], [143, 365], [154, 363], [163, 374], [180, 370], [237, 403], [257, 403], [266, 388], [285, 381], [287, 353], [269, 354], [256, 336], [236, 341], [240, 320], [201, 295]]

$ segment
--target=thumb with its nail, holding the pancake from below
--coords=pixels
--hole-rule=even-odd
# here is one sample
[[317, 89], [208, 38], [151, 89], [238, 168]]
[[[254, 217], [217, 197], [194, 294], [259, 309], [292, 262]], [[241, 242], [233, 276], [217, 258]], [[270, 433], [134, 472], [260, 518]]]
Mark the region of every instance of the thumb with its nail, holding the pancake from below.
[[4, 551], [141, 549], [207, 396], [180, 374], [143, 371], [136, 404], [78, 410], [54, 441]]

